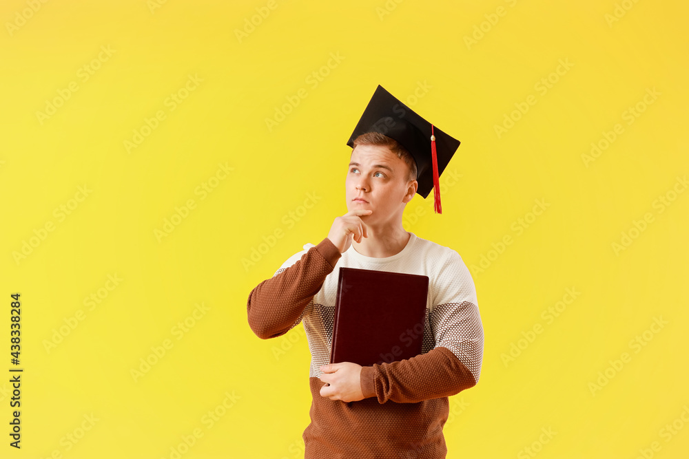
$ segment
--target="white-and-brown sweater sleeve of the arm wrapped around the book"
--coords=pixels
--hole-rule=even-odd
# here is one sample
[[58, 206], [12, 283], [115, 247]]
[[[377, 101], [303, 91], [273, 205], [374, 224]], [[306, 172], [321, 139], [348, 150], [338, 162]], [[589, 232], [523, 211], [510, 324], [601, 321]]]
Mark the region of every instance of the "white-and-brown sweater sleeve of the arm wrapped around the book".
[[362, 367], [364, 397], [416, 403], [455, 395], [478, 382], [484, 335], [473, 279], [456, 252], [440, 273], [433, 282], [437, 306], [430, 318], [435, 348], [411, 359]]

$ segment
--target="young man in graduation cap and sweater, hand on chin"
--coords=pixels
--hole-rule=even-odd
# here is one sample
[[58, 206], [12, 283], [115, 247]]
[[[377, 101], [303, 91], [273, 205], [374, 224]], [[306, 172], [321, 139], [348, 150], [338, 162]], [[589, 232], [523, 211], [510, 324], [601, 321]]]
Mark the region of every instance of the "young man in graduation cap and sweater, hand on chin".
[[[269, 339], [304, 323], [313, 396], [305, 458], [444, 458], [448, 397], [479, 379], [483, 325], [460, 255], [405, 231], [402, 212], [434, 185], [439, 210], [438, 175], [459, 142], [378, 86], [347, 145], [348, 212], [251, 291], [249, 325]], [[329, 363], [341, 267], [429, 277], [421, 354], [366, 367]]]

